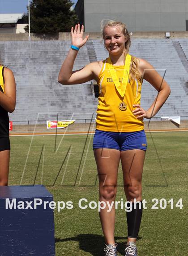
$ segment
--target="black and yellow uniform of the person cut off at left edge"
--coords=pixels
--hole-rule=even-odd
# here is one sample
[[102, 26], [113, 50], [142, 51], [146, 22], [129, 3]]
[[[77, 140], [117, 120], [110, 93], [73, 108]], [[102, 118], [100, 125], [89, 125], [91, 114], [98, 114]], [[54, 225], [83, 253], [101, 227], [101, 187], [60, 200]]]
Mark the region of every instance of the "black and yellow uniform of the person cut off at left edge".
[[[0, 66], [0, 91], [4, 93], [4, 67]], [[9, 142], [9, 115], [0, 106], [0, 151], [10, 149]]]

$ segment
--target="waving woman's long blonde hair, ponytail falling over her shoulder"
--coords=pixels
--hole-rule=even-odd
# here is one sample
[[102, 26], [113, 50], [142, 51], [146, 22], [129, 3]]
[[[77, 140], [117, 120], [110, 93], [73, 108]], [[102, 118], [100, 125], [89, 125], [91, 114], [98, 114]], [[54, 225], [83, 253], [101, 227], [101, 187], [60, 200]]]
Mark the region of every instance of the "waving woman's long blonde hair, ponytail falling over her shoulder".
[[[127, 41], [125, 42], [125, 49], [126, 49], [126, 53], [128, 54], [129, 47], [131, 45], [131, 37], [127, 30], [126, 25], [123, 22], [114, 21], [114, 20], [102, 20], [101, 21], [101, 32], [102, 32], [103, 39], [104, 39], [104, 29], [106, 27], [115, 27], [115, 26], [121, 27], [121, 31], [124, 34], [124, 37], [127, 39]], [[130, 64], [130, 72], [129, 72], [130, 81], [131, 80], [135, 81], [136, 79], [138, 81], [141, 81], [141, 74], [138, 71], [138, 62], [139, 62], [138, 59], [136, 57], [132, 56], [131, 64]]]

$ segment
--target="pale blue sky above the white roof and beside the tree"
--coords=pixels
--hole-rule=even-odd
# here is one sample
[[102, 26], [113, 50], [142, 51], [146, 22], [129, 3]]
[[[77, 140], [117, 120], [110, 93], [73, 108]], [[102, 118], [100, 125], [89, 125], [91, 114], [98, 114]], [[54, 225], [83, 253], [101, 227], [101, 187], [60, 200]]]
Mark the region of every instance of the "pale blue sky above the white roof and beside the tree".
[[[77, 3], [77, 0], [71, 1]], [[27, 13], [27, 5], [28, 0], [0, 0], [0, 13]]]

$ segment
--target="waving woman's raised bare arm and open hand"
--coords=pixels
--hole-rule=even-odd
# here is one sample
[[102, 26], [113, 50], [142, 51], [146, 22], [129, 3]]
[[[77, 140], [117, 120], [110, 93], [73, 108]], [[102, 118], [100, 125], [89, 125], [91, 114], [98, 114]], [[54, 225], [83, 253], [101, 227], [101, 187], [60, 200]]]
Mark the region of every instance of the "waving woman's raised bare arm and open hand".
[[[72, 36], [72, 45], [81, 48], [85, 45], [86, 41], [88, 40], [89, 36], [86, 36], [83, 39], [83, 32], [84, 26], [81, 27], [80, 24], [75, 26], [75, 29], [71, 29], [71, 36]], [[67, 57], [64, 60], [64, 63], [61, 66], [60, 73], [58, 76], [58, 82], [62, 85], [73, 85], [73, 84], [81, 84], [86, 81], [90, 81], [94, 79], [94, 72], [93, 69], [96, 63], [90, 63], [85, 67], [73, 71], [74, 61], [77, 57], [78, 51], [75, 49], [70, 49], [68, 52]]]

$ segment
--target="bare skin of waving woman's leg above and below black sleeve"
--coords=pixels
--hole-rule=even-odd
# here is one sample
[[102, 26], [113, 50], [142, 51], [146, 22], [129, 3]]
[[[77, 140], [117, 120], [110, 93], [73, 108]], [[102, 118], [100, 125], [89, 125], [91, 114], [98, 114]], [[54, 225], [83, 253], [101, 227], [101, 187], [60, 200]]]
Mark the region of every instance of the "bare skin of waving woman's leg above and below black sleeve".
[[[142, 200], [142, 172], [145, 159], [145, 151], [141, 149], [132, 149], [121, 151], [120, 153], [123, 176], [124, 192], [128, 201]], [[136, 242], [136, 238], [128, 238], [128, 242]]]

